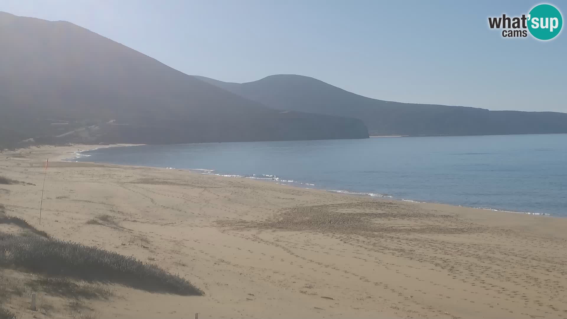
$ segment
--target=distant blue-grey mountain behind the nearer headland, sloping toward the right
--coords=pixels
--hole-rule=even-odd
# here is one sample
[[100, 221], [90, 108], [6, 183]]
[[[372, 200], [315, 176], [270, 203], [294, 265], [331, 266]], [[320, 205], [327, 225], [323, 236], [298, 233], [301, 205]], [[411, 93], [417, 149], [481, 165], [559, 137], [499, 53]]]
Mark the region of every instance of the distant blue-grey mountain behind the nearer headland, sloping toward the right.
[[366, 98], [302, 75], [270, 75], [248, 83], [196, 78], [279, 110], [356, 117], [364, 121], [371, 135], [567, 133], [565, 113], [389, 102]]

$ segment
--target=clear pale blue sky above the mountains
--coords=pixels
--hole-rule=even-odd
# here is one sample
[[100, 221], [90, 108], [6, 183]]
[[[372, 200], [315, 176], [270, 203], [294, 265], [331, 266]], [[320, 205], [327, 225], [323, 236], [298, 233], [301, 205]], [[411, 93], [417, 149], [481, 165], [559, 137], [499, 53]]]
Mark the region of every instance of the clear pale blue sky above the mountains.
[[[539, 3], [2, 0], [0, 11], [66, 20], [221, 81], [302, 74], [383, 100], [567, 112], [567, 31], [544, 42], [488, 28]], [[546, 3], [567, 18], [567, 2]]]

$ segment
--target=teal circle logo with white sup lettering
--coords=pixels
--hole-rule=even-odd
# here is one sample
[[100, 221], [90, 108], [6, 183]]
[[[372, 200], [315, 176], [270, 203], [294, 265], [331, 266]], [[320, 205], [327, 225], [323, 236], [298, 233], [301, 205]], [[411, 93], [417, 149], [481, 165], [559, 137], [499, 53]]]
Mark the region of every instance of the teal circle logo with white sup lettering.
[[551, 40], [563, 26], [561, 12], [552, 5], [538, 5], [528, 14], [528, 30], [539, 40]]

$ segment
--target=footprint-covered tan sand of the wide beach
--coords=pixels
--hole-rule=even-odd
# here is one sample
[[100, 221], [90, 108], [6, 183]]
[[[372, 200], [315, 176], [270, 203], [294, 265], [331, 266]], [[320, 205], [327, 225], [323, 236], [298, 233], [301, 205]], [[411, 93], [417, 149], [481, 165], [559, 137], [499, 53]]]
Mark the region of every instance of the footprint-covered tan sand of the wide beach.
[[[7, 213], [54, 237], [156, 263], [205, 296], [109, 285], [100, 318], [565, 318], [567, 219], [397, 202], [240, 178], [0, 154]], [[50, 158], [38, 225], [44, 158]], [[100, 215], [115, 223], [86, 224]], [[13, 230], [13, 229], [12, 229]], [[20, 276], [24, 276], [20, 274]], [[64, 300], [43, 314], [79, 317]], [[68, 301], [67, 301], [68, 302]]]

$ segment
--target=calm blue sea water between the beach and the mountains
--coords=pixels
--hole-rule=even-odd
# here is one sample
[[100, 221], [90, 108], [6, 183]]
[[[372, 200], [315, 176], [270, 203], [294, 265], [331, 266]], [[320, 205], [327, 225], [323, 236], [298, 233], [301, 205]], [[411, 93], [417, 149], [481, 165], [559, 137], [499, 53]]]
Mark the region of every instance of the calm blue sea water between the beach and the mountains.
[[73, 160], [567, 216], [565, 134], [147, 145], [91, 150]]

